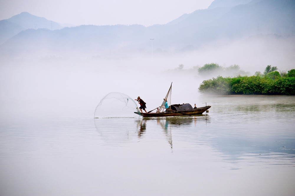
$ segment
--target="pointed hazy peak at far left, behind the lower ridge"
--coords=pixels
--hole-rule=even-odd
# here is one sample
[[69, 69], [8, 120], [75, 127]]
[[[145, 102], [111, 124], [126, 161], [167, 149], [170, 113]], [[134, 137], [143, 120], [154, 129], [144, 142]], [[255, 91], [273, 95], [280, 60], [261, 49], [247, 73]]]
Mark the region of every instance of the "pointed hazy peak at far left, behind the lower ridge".
[[0, 21], [0, 44], [26, 29], [62, 29], [57, 22], [22, 12], [9, 19]]

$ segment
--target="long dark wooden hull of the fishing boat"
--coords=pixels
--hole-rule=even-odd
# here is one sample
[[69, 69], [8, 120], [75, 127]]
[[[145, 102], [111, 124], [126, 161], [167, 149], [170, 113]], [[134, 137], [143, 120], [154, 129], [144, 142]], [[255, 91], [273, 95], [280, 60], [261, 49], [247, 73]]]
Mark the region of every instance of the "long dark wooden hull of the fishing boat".
[[[200, 108], [194, 108], [192, 111], [181, 111], [181, 112], [161, 112], [161, 113], [141, 113], [141, 112], [134, 112], [142, 117], [165, 117], [165, 116], [188, 116], [188, 115], [196, 115], [202, 114], [204, 111], [211, 108], [211, 106], [204, 106]], [[188, 115], [186, 115], [188, 114]]]

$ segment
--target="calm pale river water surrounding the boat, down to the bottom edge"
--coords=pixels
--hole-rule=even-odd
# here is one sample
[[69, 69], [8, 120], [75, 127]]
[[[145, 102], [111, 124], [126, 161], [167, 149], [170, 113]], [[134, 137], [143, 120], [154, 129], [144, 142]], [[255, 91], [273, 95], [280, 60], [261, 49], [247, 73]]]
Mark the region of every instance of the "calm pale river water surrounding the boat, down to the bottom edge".
[[195, 117], [3, 114], [0, 195], [294, 196], [295, 97], [206, 99]]

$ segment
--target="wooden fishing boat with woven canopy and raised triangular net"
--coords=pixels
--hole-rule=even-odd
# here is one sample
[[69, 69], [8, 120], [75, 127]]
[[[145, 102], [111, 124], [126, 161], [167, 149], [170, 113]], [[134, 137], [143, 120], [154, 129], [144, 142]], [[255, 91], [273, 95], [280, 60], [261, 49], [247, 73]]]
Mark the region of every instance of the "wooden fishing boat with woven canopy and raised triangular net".
[[[172, 88], [172, 83], [171, 86], [168, 90], [168, 93], [162, 103], [162, 105], [158, 108], [157, 112], [149, 111], [148, 113], [142, 113], [142, 112], [134, 112], [142, 117], [165, 117], [165, 116], [192, 116], [196, 114], [202, 114], [204, 111], [207, 111], [211, 106], [204, 106], [204, 107], [199, 107], [197, 108], [196, 105], [193, 108], [189, 103], [183, 103], [183, 104], [174, 104], [170, 105], [168, 108], [165, 108], [165, 103], [168, 104], [168, 101], [171, 103], [171, 88]], [[160, 108], [160, 109], [159, 109]], [[139, 110], [138, 110], [139, 111]]]

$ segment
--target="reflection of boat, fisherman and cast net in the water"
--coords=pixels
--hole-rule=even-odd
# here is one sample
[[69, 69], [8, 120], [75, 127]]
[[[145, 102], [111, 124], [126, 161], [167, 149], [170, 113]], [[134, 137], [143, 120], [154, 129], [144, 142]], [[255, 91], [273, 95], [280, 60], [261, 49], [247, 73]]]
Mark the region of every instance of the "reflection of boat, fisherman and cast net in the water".
[[[156, 117], [156, 118], [95, 118], [94, 124], [101, 139], [106, 145], [120, 146], [130, 142], [138, 142], [146, 132], [162, 130], [172, 148], [173, 127], [185, 128], [196, 126], [198, 122], [210, 122], [208, 114], [193, 117]], [[156, 136], [154, 136], [156, 138]], [[150, 138], [153, 140], [152, 138]]]

